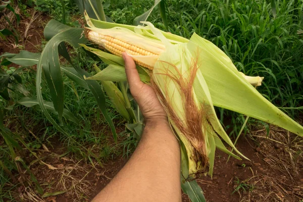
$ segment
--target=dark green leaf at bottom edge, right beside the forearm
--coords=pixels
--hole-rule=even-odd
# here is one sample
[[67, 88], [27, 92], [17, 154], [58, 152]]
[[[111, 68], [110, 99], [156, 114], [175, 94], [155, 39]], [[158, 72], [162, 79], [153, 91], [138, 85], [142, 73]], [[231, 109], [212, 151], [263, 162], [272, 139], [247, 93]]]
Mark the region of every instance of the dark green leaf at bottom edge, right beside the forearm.
[[203, 190], [195, 180], [192, 180], [190, 182], [186, 181], [185, 183], [181, 182], [181, 188], [182, 191], [188, 195], [192, 202], [206, 202]]

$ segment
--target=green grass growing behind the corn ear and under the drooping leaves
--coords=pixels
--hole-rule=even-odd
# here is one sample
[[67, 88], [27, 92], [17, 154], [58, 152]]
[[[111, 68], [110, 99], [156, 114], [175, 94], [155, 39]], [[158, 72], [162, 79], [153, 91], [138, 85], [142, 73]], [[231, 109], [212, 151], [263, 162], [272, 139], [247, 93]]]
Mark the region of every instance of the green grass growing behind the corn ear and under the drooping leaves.
[[[36, 4], [33, 5], [36, 5], [36, 10], [46, 12], [47, 15], [59, 21], [62, 20], [61, 7], [54, 7], [55, 4], [59, 5], [60, 1], [35, 2]], [[64, 0], [64, 2], [68, 24], [79, 26], [78, 23], [72, 21], [73, 16], [78, 15], [76, 6], [69, 1]], [[146, 12], [153, 4], [154, 1], [151, 0], [112, 0], [104, 2], [104, 9], [106, 15], [115, 22], [132, 24], [136, 16]], [[264, 83], [258, 87], [258, 90], [276, 106], [282, 109], [290, 108], [284, 111], [289, 116], [298, 118], [302, 112], [302, 109], [299, 110], [298, 107], [303, 105], [302, 1], [276, 1], [275, 15], [272, 5], [262, 0], [167, 0], [166, 5], [169, 32], [186, 38], [190, 38], [192, 33], [196, 32], [212, 41], [232, 59], [238, 70], [246, 75], [264, 76]], [[158, 8], [151, 14], [149, 21], [158, 28], [166, 30]], [[94, 71], [92, 68], [94, 61], [88, 58], [81, 49], [76, 50], [73, 55], [75, 64], [88, 72]], [[35, 96], [35, 72], [24, 73], [22, 79], [31, 96]], [[101, 163], [122, 154], [129, 157], [136, 146], [135, 139], [124, 131], [119, 134], [118, 144], [114, 144], [110, 129], [98, 110], [92, 93], [67, 77], [64, 77], [64, 84], [64, 107], [77, 117], [79, 125], [64, 119], [61, 124], [68, 133], [60, 134], [45, 119], [38, 106], [32, 108], [15, 106], [15, 110], [10, 111], [6, 117], [7, 123], [15, 124], [14, 132], [22, 134], [33, 149], [41, 147], [41, 143], [53, 148], [54, 139], [58, 139], [72, 156], [84, 159], [86, 162], [94, 162], [95, 159]], [[43, 98], [51, 100], [45, 81], [42, 87]], [[14, 95], [16, 100], [20, 97], [18, 93]], [[109, 99], [107, 106], [115, 124], [124, 128], [123, 119], [115, 112]], [[219, 108], [217, 108], [217, 113], [229, 133], [237, 135], [245, 117]], [[53, 115], [53, 118], [58, 120], [56, 115]], [[260, 124], [253, 119], [249, 119], [248, 123]], [[268, 125], [264, 125], [269, 129]], [[245, 127], [244, 133], [247, 131], [248, 127]], [[0, 170], [0, 179], [1, 183], [10, 183], [2, 170]], [[0, 199], [1, 197], [12, 199], [10, 189], [5, 188], [4, 184], [0, 187]], [[247, 189], [242, 182], [239, 182], [236, 189], [242, 188]]]

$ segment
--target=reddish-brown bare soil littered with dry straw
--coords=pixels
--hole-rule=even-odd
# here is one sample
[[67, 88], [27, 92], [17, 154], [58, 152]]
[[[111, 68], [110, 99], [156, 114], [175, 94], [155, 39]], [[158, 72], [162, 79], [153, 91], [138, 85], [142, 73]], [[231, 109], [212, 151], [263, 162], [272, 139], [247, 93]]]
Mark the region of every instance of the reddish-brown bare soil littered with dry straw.
[[[36, 16], [37, 15], [37, 16]], [[36, 13], [34, 21], [22, 19], [20, 44], [1, 42], [0, 55], [18, 53], [20, 49], [39, 52], [43, 41], [43, 26], [48, 18]], [[23, 32], [28, 27], [26, 36]], [[38, 126], [37, 126], [38, 127]], [[111, 133], [108, 132], [111, 136]], [[233, 140], [234, 141], [234, 140]], [[99, 165], [92, 160], [79, 160], [66, 155], [65, 145], [56, 137], [44, 149], [36, 150], [40, 163], [30, 166], [46, 192], [58, 195], [40, 197], [33, 188], [20, 185], [14, 192], [25, 201], [89, 201], [102, 190], [127, 162], [115, 157]], [[249, 160], [238, 161], [220, 151], [216, 153], [213, 178], [197, 179], [207, 201], [302, 201], [303, 200], [303, 139], [271, 126], [267, 135], [264, 128], [252, 128], [242, 135], [236, 147]], [[46, 149], [47, 148], [47, 149]], [[117, 190], [118, 191], [118, 190]], [[189, 201], [185, 194], [183, 201]]]

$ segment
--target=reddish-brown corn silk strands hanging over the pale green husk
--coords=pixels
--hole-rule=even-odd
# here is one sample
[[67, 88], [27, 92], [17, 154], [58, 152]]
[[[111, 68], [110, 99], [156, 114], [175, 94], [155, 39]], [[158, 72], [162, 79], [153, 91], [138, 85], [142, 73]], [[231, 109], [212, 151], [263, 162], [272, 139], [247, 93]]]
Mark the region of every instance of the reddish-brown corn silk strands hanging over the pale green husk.
[[[209, 129], [208, 119], [211, 117], [209, 113], [209, 106], [206, 104], [197, 104], [194, 100], [193, 95], [193, 82], [196, 77], [196, 72], [199, 70], [197, 66], [197, 60], [191, 60], [191, 65], [188, 68], [189, 77], [185, 78], [182, 76], [180, 70], [173, 64], [165, 61], [158, 61], [163, 67], [163, 73], [157, 73], [168, 76], [172, 79], [176, 85], [178, 85], [182, 101], [183, 109], [185, 113], [185, 120], [180, 120], [172, 108], [171, 103], [173, 100], [169, 96], [164, 97], [161, 89], [156, 85], [155, 81], [151, 79], [151, 85], [155, 89], [162, 105], [164, 106], [169, 119], [173, 122], [174, 126], [177, 127], [185, 138], [190, 142], [193, 147], [193, 155], [188, 157], [191, 161], [195, 162], [197, 173], [191, 173], [192, 175], [198, 176], [200, 172], [207, 172], [209, 165], [208, 151], [205, 144], [206, 130]], [[165, 66], [171, 66], [177, 72], [171, 73]], [[167, 94], [168, 89], [165, 89]]]

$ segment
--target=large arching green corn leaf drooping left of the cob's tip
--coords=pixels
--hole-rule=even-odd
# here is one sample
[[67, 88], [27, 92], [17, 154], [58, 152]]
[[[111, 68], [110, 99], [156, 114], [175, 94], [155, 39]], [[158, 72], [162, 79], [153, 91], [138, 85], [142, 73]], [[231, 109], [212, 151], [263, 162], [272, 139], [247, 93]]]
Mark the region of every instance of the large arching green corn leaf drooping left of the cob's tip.
[[[58, 33], [52, 37], [52, 34], [55, 34], [56, 32]], [[38, 103], [47, 119], [63, 133], [65, 133], [65, 130], [57, 124], [51, 115], [49, 115], [46, 107], [44, 106], [40, 86], [42, 69], [44, 70], [45, 77], [47, 78], [47, 84], [51, 91], [55, 110], [58, 112], [58, 116], [61, 119], [63, 114], [64, 89], [58, 56], [58, 46], [63, 41], [70, 43], [74, 47], [78, 47], [79, 42], [85, 43], [87, 40], [85, 37], [82, 37], [82, 32], [83, 29], [81, 28], [70, 28], [55, 20], [49, 21], [44, 29], [44, 36], [45, 38], [52, 38], [44, 46], [37, 64], [36, 91]]]

